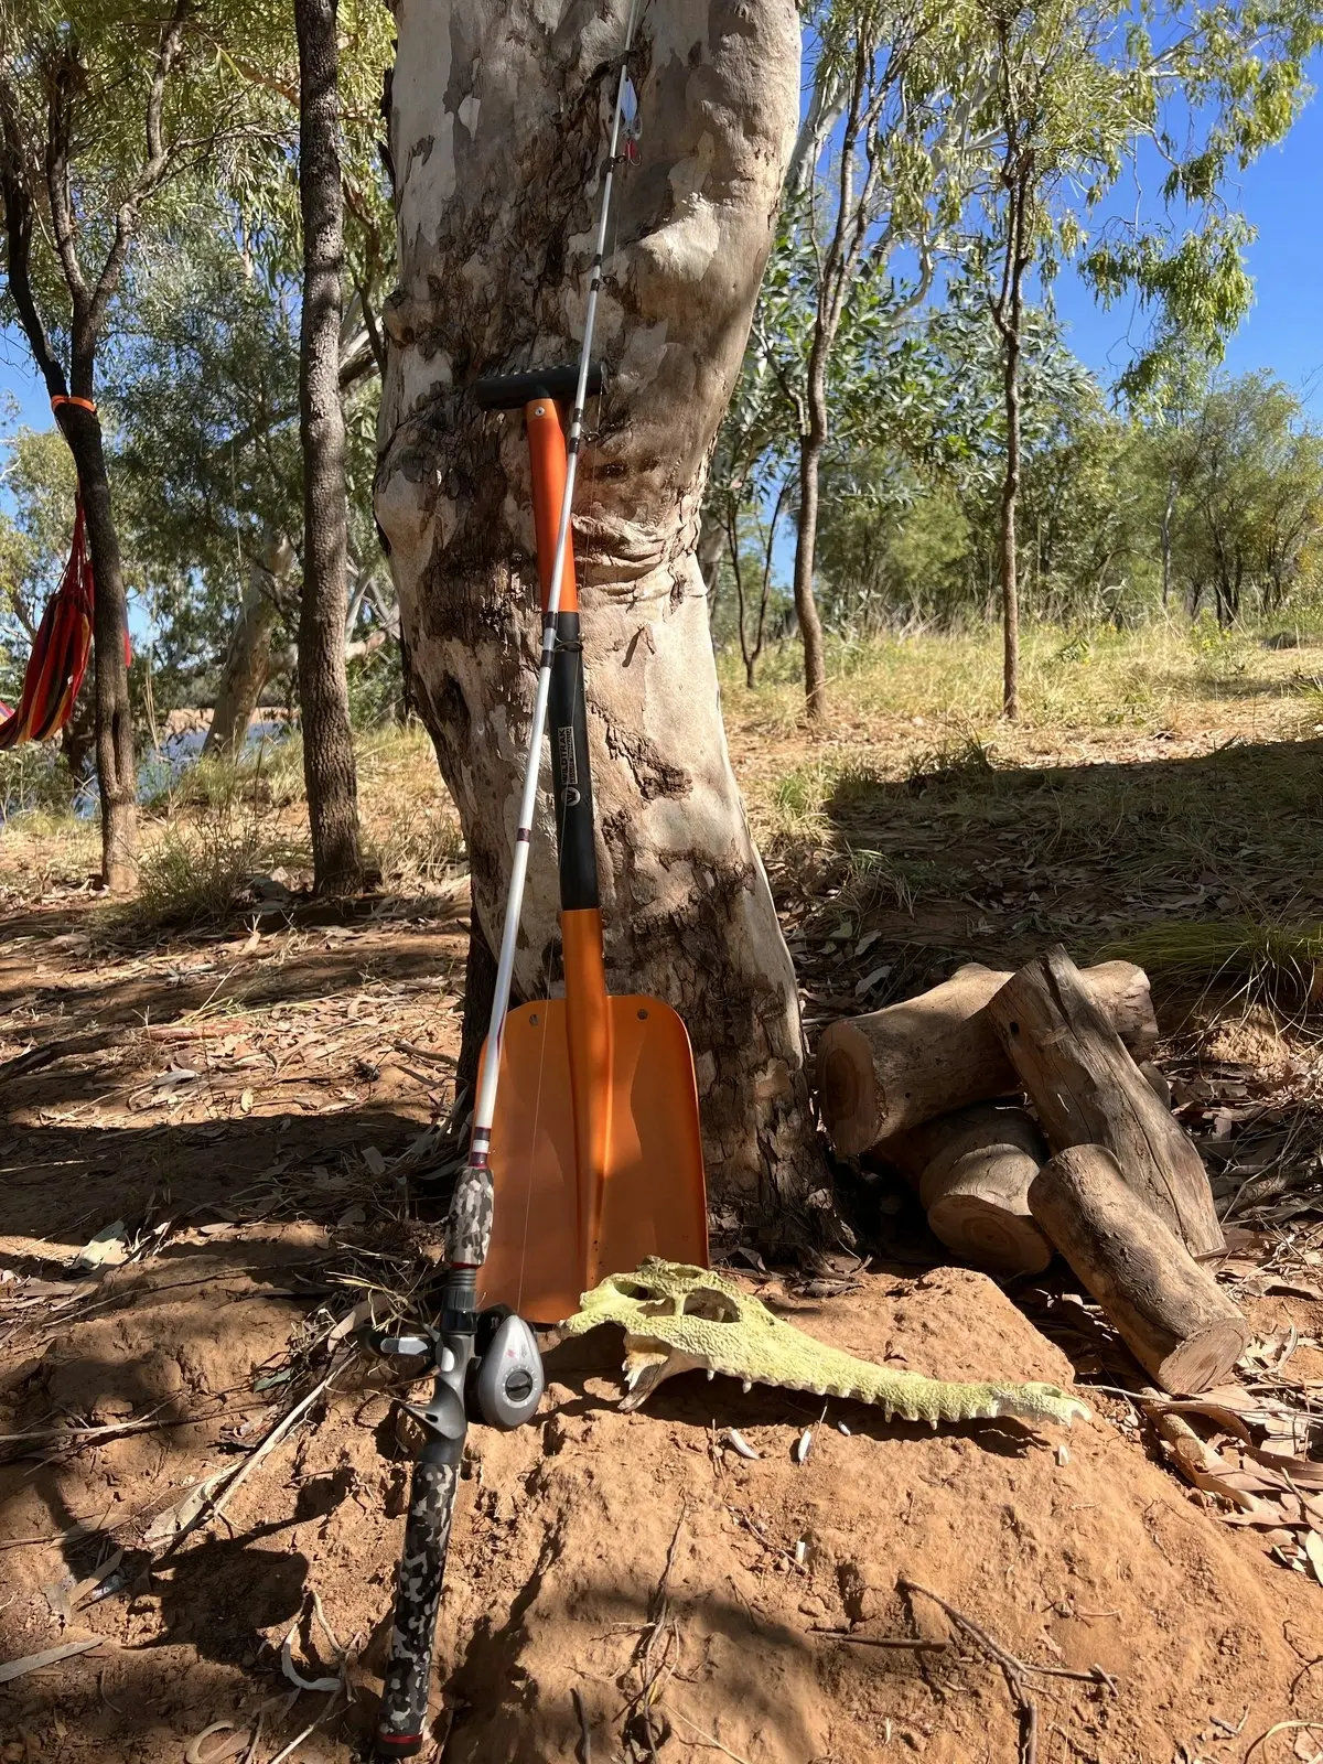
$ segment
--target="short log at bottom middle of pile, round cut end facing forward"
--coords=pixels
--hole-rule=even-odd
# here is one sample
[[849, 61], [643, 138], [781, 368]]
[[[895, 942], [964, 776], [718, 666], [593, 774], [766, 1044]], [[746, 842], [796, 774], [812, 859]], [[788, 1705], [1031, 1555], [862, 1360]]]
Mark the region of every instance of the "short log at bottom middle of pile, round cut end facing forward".
[[928, 1224], [961, 1261], [1009, 1279], [1041, 1274], [1051, 1244], [1028, 1212], [1048, 1147], [1025, 1110], [975, 1102], [877, 1148], [917, 1187]]

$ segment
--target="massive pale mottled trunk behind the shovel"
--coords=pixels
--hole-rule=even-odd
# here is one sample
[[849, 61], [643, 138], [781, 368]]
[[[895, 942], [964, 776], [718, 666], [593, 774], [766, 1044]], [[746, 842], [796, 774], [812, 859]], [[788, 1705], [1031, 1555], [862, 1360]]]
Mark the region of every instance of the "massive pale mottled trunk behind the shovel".
[[[624, 0], [564, 19], [531, 0], [397, 7], [400, 289], [385, 314], [377, 519], [489, 946], [540, 633], [522, 425], [478, 411], [467, 388], [579, 355], [624, 12]], [[797, 122], [796, 11], [676, 0], [644, 12], [632, 60], [642, 161], [616, 185], [596, 340], [612, 372], [589, 413], [575, 522], [607, 975], [612, 991], [679, 1009], [709, 1182], [771, 1215], [826, 1175], [794, 970], [721, 730], [695, 545]], [[549, 986], [556, 946], [545, 792], [522, 997]]]

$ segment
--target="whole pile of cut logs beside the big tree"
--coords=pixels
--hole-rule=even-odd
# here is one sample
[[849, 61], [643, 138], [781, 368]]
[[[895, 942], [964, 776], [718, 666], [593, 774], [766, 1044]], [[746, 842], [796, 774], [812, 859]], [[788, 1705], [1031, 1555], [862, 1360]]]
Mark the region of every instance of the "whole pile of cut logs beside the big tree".
[[1192, 1394], [1249, 1327], [1207, 1265], [1222, 1230], [1155, 1041], [1141, 968], [1055, 947], [833, 1023], [818, 1095], [836, 1150], [903, 1171], [949, 1249], [1002, 1277], [1058, 1251], [1152, 1379]]

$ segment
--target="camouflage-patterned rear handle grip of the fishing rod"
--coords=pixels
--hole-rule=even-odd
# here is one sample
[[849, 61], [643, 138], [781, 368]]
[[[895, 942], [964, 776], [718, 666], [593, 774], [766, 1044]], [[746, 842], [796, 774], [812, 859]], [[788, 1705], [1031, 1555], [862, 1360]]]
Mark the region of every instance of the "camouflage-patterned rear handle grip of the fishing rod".
[[404, 1554], [395, 1589], [395, 1630], [381, 1688], [377, 1759], [409, 1759], [422, 1750], [432, 1681], [436, 1612], [455, 1517], [459, 1462], [448, 1441], [429, 1439], [413, 1466]]

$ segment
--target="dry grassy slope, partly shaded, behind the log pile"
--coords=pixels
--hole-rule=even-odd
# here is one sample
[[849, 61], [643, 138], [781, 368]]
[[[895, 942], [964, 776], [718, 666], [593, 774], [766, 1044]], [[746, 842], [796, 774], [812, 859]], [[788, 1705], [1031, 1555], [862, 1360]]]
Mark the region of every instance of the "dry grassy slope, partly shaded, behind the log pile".
[[[834, 942], [820, 991], [848, 997], [878, 960], [914, 988], [1055, 940], [1092, 960], [1132, 933], [1148, 942], [1125, 953], [1152, 953], [1178, 990], [1286, 1004], [1312, 984], [1316, 649], [1215, 626], [1039, 628], [1009, 725], [995, 635], [882, 642], [834, 653], [826, 732], [803, 721], [797, 654], [774, 660], [785, 677], [727, 683], [723, 706], [783, 917], [810, 949]], [[875, 933], [857, 961], [845, 921]], [[1168, 926], [1192, 926], [1184, 954]]]

